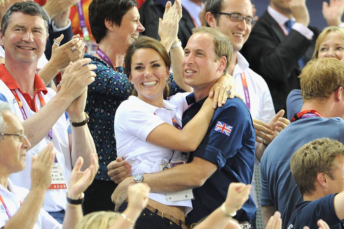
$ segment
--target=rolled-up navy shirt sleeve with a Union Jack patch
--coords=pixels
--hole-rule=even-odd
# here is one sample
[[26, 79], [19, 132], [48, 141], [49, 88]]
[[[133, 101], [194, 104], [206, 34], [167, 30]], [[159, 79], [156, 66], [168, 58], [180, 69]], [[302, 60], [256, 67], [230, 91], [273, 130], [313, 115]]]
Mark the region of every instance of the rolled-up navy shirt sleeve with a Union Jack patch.
[[[230, 133], [222, 131], [223, 128], [230, 129]], [[206, 136], [193, 153], [221, 169], [239, 150], [254, 152], [254, 139], [250, 113], [242, 100], [234, 98], [216, 109]]]

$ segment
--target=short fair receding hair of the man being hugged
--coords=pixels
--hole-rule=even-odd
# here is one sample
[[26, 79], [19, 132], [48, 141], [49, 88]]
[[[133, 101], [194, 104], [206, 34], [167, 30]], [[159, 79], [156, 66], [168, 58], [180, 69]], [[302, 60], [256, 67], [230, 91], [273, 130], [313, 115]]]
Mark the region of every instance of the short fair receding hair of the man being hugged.
[[211, 27], [201, 26], [192, 29], [192, 34], [195, 33], [204, 33], [210, 34], [214, 38], [214, 52], [215, 52], [215, 62], [218, 61], [221, 57], [226, 57], [227, 63], [226, 67], [223, 70], [223, 75], [225, 75], [228, 71], [228, 66], [230, 61], [232, 60], [233, 55], [233, 46], [230, 38], [225, 34], [215, 30]]

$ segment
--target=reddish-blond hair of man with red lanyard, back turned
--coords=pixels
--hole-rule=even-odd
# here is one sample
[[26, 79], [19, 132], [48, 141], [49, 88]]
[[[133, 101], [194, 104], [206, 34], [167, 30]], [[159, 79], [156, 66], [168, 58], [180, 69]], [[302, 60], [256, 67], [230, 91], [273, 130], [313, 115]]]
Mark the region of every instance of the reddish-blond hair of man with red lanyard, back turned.
[[339, 87], [344, 88], [344, 65], [335, 58], [310, 60], [300, 78], [303, 100], [327, 99]]

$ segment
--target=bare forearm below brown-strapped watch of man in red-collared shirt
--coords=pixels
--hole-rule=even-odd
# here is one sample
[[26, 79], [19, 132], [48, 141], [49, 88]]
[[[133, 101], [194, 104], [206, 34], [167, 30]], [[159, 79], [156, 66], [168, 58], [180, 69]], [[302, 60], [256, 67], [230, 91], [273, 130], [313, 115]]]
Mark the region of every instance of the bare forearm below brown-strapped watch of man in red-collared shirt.
[[[85, 119], [85, 116], [83, 119]], [[75, 164], [78, 157], [83, 157], [84, 164], [82, 170], [85, 170], [91, 164], [90, 154], [97, 153], [87, 124], [84, 126], [72, 127], [72, 139], [72, 165]]]

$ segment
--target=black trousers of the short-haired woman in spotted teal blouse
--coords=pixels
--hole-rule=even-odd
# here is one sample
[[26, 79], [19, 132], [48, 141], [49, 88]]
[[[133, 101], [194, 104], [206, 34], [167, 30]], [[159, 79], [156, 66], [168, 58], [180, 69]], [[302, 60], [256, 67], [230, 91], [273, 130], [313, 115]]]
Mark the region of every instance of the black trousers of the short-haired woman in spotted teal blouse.
[[113, 181], [99, 181], [94, 179], [85, 191], [83, 213], [84, 215], [94, 211], [114, 211], [115, 204], [111, 201], [111, 195], [117, 184]]

